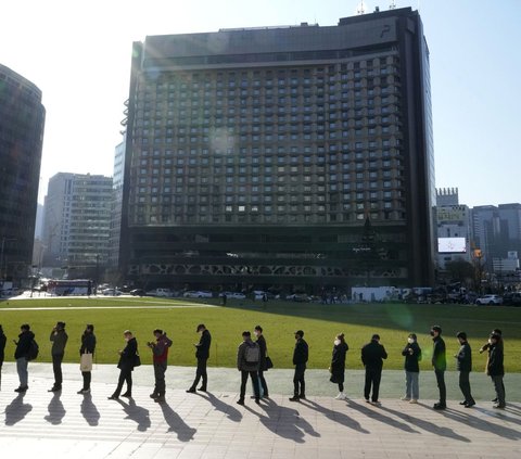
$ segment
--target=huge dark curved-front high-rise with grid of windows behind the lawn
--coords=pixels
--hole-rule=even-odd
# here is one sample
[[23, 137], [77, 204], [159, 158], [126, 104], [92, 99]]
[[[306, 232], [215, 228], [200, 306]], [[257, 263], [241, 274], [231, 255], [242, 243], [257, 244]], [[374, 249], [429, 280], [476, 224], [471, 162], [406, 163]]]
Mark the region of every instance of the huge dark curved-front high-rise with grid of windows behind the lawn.
[[149, 284], [429, 285], [433, 168], [429, 51], [408, 8], [147, 37], [120, 265]]

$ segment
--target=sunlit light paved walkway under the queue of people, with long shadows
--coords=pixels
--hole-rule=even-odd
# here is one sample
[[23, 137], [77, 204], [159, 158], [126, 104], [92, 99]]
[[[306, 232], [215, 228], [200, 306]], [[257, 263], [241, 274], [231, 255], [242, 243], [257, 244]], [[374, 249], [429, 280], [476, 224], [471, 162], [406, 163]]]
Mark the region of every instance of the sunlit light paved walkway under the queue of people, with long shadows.
[[[350, 400], [340, 401], [331, 397], [335, 387], [327, 381], [327, 371], [309, 371], [308, 400], [294, 404], [288, 400], [291, 371], [270, 370], [270, 399], [257, 406], [247, 398], [245, 407], [236, 404], [239, 373], [232, 369], [209, 369], [212, 392], [187, 394], [194, 369], [170, 367], [167, 403], [161, 405], [149, 397], [151, 367], [136, 369], [134, 400], [119, 401], [106, 399], [117, 380], [115, 366], [94, 368], [91, 396], [76, 394], [77, 365], [64, 366], [62, 393], [47, 392], [51, 373], [48, 364], [29, 364], [29, 391], [23, 397], [13, 392], [14, 365], [4, 364], [3, 458], [521, 457], [521, 404], [510, 401], [510, 394], [521, 385], [518, 375], [506, 380], [508, 406], [498, 411], [492, 409], [492, 384], [482, 374], [473, 374], [471, 381], [480, 396], [483, 390], [483, 398], [474, 391], [478, 407], [461, 408], [454, 401], [460, 396], [455, 374], [449, 373], [449, 408], [437, 412], [431, 409], [432, 399], [423, 399], [432, 393], [429, 381], [434, 379], [427, 372], [420, 385], [421, 404], [416, 406], [397, 399], [403, 395], [403, 374], [384, 372], [381, 407], [360, 399], [361, 372], [348, 372]], [[481, 379], [486, 381], [483, 387]]]

